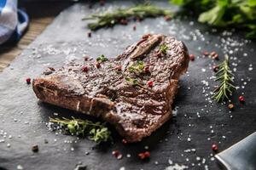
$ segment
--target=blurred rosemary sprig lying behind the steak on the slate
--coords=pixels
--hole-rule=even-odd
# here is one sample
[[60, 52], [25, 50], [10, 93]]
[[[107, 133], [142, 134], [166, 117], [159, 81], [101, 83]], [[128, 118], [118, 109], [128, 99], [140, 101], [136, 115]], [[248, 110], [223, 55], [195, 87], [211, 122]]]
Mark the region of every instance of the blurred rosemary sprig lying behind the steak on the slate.
[[90, 30], [97, 30], [102, 27], [114, 26], [122, 23], [124, 20], [127, 22], [131, 17], [144, 19], [157, 16], [172, 17], [172, 12], [151, 4], [140, 4], [131, 8], [118, 8], [113, 12], [92, 14], [90, 17], [84, 17], [82, 20], [96, 20], [96, 22], [88, 24], [88, 27]]

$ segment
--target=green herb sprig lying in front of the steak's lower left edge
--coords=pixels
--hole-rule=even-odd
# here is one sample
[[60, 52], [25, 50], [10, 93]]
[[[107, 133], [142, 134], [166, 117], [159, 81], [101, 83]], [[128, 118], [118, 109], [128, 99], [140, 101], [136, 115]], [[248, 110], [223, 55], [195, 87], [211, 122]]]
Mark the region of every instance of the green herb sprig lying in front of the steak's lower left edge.
[[91, 122], [88, 120], [76, 119], [74, 117], [72, 117], [72, 119], [67, 119], [65, 117], [62, 119], [49, 118], [49, 122], [61, 124], [61, 126], [67, 128], [69, 133], [83, 137], [87, 136], [97, 144], [107, 142], [111, 139], [111, 132], [108, 130], [108, 127], [105, 126], [105, 123]]

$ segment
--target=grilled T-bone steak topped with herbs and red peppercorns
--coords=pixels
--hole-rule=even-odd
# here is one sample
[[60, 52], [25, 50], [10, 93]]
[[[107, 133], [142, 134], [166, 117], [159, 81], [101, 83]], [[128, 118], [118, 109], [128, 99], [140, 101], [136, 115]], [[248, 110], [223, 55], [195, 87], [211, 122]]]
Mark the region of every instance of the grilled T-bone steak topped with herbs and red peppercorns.
[[114, 59], [49, 68], [34, 79], [33, 90], [49, 104], [101, 117], [137, 142], [172, 116], [177, 81], [188, 65], [183, 42], [148, 34]]

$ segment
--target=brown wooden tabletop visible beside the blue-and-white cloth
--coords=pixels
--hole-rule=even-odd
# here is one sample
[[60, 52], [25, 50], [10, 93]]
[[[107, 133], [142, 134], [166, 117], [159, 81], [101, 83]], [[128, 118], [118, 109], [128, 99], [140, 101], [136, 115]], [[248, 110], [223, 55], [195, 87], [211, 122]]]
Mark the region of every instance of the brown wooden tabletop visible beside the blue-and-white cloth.
[[19, 4], [20, 8], [24, 8], [30, 17], [29, 28], [20, 42], [5, 44], [0, 47], [0, 72], [10, 62], [19, 55], [42, 31], [48, 26], [55, 16], [64, 8], [70, 6], [71, 2], [26, 2]]

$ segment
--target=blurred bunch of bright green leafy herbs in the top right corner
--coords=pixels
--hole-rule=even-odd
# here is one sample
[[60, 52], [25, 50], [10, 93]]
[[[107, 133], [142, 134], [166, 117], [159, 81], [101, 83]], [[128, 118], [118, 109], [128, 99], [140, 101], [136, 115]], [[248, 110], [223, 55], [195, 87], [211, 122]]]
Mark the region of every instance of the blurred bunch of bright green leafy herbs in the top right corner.
[[201, 23], [217, 27], [236, 27], [256, 38], [255, 0], [169, 0], [198, 15]]

